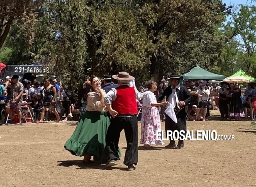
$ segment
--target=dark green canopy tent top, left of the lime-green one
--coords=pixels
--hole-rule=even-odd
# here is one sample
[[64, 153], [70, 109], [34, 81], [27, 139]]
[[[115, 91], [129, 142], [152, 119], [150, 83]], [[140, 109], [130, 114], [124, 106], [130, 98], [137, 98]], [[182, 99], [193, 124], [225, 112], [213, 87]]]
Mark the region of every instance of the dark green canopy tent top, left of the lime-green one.
[[222, 81], [223, 79], [225, 79], [224, 75], [218, 75], [218, 74], [206, 71], [205, 69], [202, 69], [198, 65], [195, 65], [192, 69], [190, 69], [188, 72], [184, 73], [181, 77], [183, 80], [203, 79], [203, 80]]

